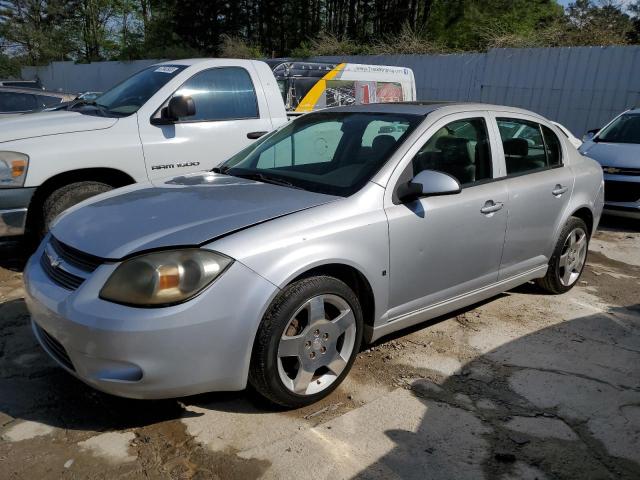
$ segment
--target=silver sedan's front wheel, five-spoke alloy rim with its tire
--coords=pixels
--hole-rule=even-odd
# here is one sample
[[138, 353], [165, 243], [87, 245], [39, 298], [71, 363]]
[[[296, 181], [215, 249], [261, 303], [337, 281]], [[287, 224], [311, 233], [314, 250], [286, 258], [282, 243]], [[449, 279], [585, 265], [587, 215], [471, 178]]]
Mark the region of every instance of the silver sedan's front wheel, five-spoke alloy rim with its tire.
[[340, 280], [317, 276], [286, 287], [258, 330], [249, 381], [289, 408], [329, 395], [351, 369], [362, 341], [362, 309]]

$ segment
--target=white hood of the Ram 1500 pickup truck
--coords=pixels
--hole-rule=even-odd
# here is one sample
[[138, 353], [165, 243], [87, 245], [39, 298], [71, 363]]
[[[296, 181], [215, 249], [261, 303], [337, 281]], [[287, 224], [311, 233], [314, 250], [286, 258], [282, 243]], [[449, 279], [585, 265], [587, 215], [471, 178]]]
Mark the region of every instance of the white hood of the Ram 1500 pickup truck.
[[61, 133], [101, 130], [115, 125], [117, 118], [94, 117], [78, 112], [28, 113], [0, 119], [0, 143]]

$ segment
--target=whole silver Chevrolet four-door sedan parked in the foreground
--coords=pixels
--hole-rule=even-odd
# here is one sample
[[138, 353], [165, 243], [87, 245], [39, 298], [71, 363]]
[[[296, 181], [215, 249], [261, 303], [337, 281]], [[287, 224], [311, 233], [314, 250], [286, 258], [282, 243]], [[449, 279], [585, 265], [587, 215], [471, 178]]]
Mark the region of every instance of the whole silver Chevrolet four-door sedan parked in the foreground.
[[214, 172], [64, 213], [25, 270], [42, 347], [97, 389], [250, 383], [298, 407], [363, 342], [535, 280], [573, 287], [602, 169], [552, 123], [490, 105], [311, 113]]

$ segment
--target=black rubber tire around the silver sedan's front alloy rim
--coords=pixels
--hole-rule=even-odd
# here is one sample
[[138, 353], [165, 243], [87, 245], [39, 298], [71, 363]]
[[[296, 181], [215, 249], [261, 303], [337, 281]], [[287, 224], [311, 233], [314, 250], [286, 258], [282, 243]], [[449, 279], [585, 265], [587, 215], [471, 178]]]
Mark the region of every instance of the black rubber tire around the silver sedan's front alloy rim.
[[[316, 394], [301, 395], [288, 389], [280, 379], [278, 345], [295, 312], [309, 299], [323, 294], [341, 297], [351, 307], [356, 324], [355, 344], [346, 367], [330, 385]], [[264, 398], [282, 407], [299, 408], [317, 402], [333, 392], [349, 373], [360, 350], [362, 331], [360, 302], [344, 282], [329, 276], [309, 277], [294, 282], [278, 294], [262, 319], [251, 354], [249, 383]]]

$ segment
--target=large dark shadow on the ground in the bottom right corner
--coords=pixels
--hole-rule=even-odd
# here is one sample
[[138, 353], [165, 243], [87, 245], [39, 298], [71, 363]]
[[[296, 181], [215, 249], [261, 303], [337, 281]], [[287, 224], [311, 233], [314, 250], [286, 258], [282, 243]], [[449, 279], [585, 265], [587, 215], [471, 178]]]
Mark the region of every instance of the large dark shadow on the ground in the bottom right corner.
[[393, 447], [351, 478], [640, 478], [639, 307], [504, 343], [440, 385], [414, 381], [417, 427], [387, 429]]

